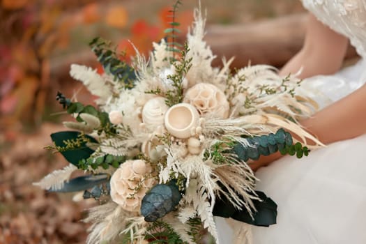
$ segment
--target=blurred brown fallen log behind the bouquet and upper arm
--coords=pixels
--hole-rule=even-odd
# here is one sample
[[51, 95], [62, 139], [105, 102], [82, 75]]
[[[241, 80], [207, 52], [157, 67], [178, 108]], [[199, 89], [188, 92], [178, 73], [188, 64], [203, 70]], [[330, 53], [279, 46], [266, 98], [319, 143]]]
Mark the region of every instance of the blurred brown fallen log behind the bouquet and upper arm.
[[[302, 47], [306, 19], [306, 14], [298, 14], [250, 24], [208, 26], [206, 41], [218, 56], [214, 65], [220, 66], [222, 56], [234, 56], [232, 67], [248, 62], [281, 67]], [[356, 55], [350, 46], [346, 59]]]

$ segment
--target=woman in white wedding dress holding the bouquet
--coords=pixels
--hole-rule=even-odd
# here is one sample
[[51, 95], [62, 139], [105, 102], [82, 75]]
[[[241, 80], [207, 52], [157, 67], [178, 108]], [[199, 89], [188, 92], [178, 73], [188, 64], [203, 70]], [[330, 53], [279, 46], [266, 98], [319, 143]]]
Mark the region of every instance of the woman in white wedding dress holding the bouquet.
[[[302, 160], [272, 155], [255, 162], [257, 189], [278, 204], [277, 224], [246, 226], [243, 240], [236, 232], [243, 224], [218, 218], [221, 243], [366, 243], [366, 0], [303, 5], [312, 13], [305, 43], [281, 74], [303, 68], [303, 89], [323, 109], [300, 123], [328, 146]], [[340, 70], [348, 41], [361, 60]]]

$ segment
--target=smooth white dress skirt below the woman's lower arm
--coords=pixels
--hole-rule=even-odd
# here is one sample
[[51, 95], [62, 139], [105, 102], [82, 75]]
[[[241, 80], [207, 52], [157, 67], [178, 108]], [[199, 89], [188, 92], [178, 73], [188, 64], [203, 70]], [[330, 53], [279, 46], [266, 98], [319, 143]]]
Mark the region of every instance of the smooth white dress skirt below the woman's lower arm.
[[366, 243], [366, 135], [259, 169], [258, 190], [278, 204], [277, 224], [252, 227], [255, 244]]

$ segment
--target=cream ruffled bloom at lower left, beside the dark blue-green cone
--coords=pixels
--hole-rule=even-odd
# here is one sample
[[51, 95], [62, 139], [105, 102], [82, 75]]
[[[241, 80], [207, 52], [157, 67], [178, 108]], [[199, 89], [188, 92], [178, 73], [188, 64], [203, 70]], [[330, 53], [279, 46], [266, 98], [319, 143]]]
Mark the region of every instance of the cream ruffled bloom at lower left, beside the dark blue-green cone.
[[[151, 167], [144, 160], [125, 161], [111, 177], [112, 200], [126, 211], [138, 212], [146, 191], [153, 186], [153, 179], [146, 178], [149, 173]], [[140, 182], [142, 187], [136, 192], [135, 188]]]

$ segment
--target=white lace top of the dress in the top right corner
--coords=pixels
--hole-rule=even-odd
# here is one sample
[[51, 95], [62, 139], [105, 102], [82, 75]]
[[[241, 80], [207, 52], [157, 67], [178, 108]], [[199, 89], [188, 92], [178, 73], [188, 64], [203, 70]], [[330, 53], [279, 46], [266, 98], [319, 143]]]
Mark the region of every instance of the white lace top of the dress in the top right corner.
[[366, 0], [302, 0], [307, 10], [331, 29], [349, 38], [366, 59]]

